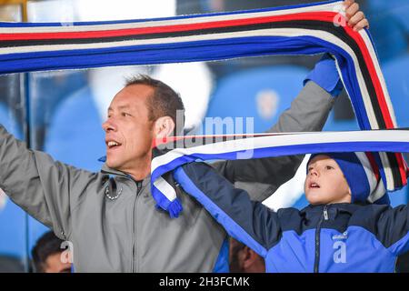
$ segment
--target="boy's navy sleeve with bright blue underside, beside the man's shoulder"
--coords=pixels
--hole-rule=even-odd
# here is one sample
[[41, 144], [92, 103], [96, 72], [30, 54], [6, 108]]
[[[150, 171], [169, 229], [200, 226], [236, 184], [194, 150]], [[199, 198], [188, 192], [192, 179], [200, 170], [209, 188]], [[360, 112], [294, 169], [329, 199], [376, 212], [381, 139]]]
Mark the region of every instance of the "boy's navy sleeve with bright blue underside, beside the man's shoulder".
[[180, 166], [174, 173], [175, 181], [187, 194], [224, 226], [235, 239], [266, 256], [280, 236], [277, 214], [262, 203], [250, 200], [248, 194], [227, 181], [205, 163]]

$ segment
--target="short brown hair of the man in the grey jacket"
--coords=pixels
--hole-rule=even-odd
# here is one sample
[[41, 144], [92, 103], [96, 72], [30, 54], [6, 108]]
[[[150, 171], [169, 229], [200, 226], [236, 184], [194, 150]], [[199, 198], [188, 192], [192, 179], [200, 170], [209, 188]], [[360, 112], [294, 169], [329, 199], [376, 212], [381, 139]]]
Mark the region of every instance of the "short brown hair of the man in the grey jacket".
[[[149, 110], [149, 120], [156, 121], [159, 117], [170, 116], [175, 123], [176, 128], [182, 130], [185, 125], [185, 105], [179, 94], [164, 82], [151, 78], [149, 75], [135, 75], [126, 78], [125, 86], [129, 85], [148, 85], [154, 89], [154, 94], [148, 98], [147, 107]], [[177, 120], [176, 113], [180, 111], [182, 120]], [[181, 123], [179, 127], [177, 122]]]

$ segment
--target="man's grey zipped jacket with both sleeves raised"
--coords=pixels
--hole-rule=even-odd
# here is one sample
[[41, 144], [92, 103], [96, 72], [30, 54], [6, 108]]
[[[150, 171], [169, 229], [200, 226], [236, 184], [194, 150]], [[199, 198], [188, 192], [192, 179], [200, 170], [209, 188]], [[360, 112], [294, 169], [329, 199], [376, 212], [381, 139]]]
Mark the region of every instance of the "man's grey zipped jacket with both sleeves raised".
[[[309, 82], [270, 131], [321, 130], [333, 103]], [[214, 166], [261, 201], [294, 176], [302, 159], [284, 156]], [[110, 176], [120, 193], [115, 200], [106, 196], [113, 184]], [[136, 182], [106, 166], [91, 173], [55, 162], [26, 149], [0, 125], [0, 187], [56, 236], [72, 243], [75, 271], [212, 272], [226, 237], [223, 228], [184, 193], [179, 194], [184, 206], [179, 218], [156, 210], [149, 178]]]

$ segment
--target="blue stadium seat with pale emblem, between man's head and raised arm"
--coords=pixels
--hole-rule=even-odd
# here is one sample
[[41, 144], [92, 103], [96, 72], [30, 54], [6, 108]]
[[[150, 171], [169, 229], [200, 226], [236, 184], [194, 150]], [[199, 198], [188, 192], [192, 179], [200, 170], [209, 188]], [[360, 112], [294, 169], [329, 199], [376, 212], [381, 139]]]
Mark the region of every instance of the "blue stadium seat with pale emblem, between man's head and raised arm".
[[[254, 132], [264, 132], [277, 122], [280, 113], [301, 91], [307, 73], [303, 67], [276, 65], [228, 75], [219, 80], [206, 117], [244, 117], [247, 133], [251, 133], [252, 128], [245, 128], [245, 117], [254, 117]], [[233, 132], [224, 130], [224, 133]]]

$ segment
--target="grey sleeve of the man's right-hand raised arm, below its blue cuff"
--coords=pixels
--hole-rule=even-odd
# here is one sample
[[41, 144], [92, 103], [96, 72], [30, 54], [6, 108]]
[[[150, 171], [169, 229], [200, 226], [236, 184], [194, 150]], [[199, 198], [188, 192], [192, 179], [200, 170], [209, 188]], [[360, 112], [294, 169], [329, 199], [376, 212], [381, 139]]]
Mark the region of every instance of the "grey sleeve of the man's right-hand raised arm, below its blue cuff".
[[[334, 98], [313, 81], [294, 99], [291, 107], [280, 115], [269, 133], [321, 131], [334, 105]], [[301, 165], [304, 155], [220, 161], [212, 164], [231, 183], [254, 183], [256, 191], [249, 191], [252, 199], [263, 201], [290, 180]], [[268, 186], [261, 191], [260, 186]], [[251, 188], [251, 187], [250, 187]], [[246, 189], [250, 189], [246, 187]], [[266, 187], [264, 187], [265, 189]]]

